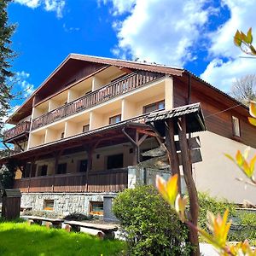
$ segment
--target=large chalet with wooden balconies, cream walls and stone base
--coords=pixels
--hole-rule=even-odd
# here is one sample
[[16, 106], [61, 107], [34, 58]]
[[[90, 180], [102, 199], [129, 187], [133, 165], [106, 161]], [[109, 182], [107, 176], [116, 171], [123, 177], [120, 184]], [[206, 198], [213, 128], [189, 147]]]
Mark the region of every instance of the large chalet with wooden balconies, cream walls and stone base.
[[[255, 189], [244, 189], [224, 157], [256, 148], [248, 109], [187, 70], [156, 64], [68, 55], [7, 120], [15, 127], [3, 143], [15, 150], [1, 161], [18, 166], [22, 206], [102, 214], [104, 197], [143, 176], [134, 168], [145, 160], [140, 153], [158, 146], [148, 113], [195, 102], [207, 127], [199, 134], [202, 161], [193, 165], [197, 189], [255, 204]], [[154, 174], [147, 178], [152, 183]]]

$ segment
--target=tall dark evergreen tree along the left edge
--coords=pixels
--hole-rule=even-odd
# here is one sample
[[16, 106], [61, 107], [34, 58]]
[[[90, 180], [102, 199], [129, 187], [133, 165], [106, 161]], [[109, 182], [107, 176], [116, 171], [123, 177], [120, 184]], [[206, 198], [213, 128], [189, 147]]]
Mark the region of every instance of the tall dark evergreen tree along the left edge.
[[10, 62], [15, 57], [15, 52], [10, 48], [11, 36], [15, 32], [15, 25], [9, 24], [7, 7], [11, 0], [0, 1], [0, 134], [3, 130], [3, 118], [7, 116], [10, 104], [14, 98], [9, 79], [14, 76], [10, 71]]

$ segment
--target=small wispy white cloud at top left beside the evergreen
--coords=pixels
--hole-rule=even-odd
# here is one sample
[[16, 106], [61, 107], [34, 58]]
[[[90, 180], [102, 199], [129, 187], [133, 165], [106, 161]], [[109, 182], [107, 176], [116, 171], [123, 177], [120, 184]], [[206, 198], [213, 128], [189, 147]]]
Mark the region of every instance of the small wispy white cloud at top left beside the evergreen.
[[62, 17], [62, 11], [65, 6], [65, 0], [14, 0], [14, 2], [32, 9], [43, 6], [46, 11], [55, 12], [58, 18]]

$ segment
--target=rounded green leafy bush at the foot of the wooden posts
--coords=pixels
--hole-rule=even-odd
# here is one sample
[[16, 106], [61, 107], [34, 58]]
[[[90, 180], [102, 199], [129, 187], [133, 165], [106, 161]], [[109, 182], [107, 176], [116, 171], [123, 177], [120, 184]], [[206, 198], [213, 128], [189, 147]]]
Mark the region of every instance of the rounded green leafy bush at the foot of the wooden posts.
[[113, 212], [125, 230], [130, 255], [188, 255], [188, 229], [153, 186], [119, 193]]

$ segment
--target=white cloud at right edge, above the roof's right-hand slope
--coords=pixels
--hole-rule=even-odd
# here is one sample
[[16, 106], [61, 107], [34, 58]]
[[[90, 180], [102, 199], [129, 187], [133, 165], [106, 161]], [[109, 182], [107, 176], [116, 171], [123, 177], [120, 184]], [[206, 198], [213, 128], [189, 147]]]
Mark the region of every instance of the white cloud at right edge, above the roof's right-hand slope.
[[[223, 0], [230, 9], [230, 20], [211, 34], [212, 46], [209, 54], [213, 60], [201, 74], [201, 78], [222, 90], [229, 91], [236, 80], [247, 74], [255, 73], [255, 59], [240, 58], [241, 50], [233, 43], [236, 29], [247, 32], [249, 27], [256, 32], [255, 2], [247, 0]], [[244, 56], [244, 55], [243, 55]], [[220, 61], [221, 59], [228, 61]]]

